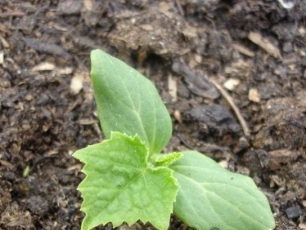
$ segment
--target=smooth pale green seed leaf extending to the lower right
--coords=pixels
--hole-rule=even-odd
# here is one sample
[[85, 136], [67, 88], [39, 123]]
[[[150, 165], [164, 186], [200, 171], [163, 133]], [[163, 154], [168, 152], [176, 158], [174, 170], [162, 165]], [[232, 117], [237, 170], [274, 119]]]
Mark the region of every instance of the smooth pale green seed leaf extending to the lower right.
[[179, 183], [174, 213], [198, 230], [268, 230], [269, 203], [253, 180], [229, 172], [201, 153], [187, 151], [170, 166]]

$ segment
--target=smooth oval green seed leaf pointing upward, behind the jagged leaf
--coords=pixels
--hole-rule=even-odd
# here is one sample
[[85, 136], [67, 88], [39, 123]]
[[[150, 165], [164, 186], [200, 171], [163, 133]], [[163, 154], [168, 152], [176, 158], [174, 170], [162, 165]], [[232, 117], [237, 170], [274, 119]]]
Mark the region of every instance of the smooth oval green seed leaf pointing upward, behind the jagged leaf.
[[172, 123], [155, 86], [132, 67], [101, 51], [91, 52], [91, 77], [98, 115], [107, 138], [111, 131], [138, 134], [150, 153], [168, 143]]

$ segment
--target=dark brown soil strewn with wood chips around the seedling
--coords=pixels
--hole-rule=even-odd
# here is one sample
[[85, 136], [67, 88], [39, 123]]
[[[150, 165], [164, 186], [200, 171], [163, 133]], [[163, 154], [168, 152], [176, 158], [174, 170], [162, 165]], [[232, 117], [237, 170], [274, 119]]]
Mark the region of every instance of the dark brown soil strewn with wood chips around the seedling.
[[251, 176], [276, 229], [306, 229], [305, 21], [303, 0], [0, 0], [0, 229], [80, 228], [71, 154], [103, 138], [94, 48], [154, 81], [167, 151]]

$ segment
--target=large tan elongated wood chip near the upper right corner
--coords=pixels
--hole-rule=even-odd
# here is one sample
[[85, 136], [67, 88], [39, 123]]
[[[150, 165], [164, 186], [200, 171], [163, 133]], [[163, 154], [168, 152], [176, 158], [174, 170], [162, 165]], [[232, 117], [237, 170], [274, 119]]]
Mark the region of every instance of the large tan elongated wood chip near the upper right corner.
[[261, 36], [260, 33], [250, 32], [248, 38], [251, 42], [261, 47], [271, 56], [275, 58], [282, 58], [279, 49], [274, 44], [272, 44], [272, 42], [270, 42], [267, 38]]

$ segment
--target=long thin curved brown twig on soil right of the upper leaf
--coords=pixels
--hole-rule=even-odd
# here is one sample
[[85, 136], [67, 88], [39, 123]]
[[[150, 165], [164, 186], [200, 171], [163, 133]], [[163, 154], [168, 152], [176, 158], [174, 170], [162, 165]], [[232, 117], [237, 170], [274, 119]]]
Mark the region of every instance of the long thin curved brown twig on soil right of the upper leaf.
[[232, 107], [232, 109], [234, 110], [236, 117], [242, 127], [243, 133], [246, 137], [250, 137], [250, 129], [246, 123], [246, 121], [244, 120], [243, 116], [240, 113], [240, 110], [238, 109], [238, 107], [235, 105], [234, 100], [232, 99], [232, 97], [223, 89], [223, 87], [221, 85], [219, 85], [215, 80], [213, 79], [209, 79], [211, 81], [211, 83], [214, 84], [214, 86], [220, 91], [220, 93], [222, 94], [222, 96], [225, 98], [225, 100], [230, 104], [230, 106]]

